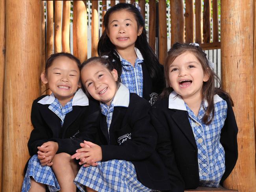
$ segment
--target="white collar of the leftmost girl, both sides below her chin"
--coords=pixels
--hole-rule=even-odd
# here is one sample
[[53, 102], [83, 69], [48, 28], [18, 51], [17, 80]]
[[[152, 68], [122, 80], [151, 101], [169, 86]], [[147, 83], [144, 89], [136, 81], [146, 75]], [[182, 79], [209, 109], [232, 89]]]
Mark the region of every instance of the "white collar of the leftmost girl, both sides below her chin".
[[[43, 99], [39, 100], [37, 103], [41, 103], [43, 105], [50, 105], [54, 102], [55, 96], [54, 94], [50, 94], [45, 96]], [[79, 106], [87, 106], [89, 105], [89, 100], [82, 89], [78, 89], [76, 91], [76, 94], [73, 97], [72, 100], [72, 106], [79, 105]]]

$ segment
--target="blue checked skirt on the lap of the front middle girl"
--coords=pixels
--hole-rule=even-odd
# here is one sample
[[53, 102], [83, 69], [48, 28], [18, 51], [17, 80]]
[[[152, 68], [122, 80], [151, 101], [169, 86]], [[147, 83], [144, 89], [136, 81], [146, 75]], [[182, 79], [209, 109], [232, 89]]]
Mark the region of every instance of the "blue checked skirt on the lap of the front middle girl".
[[85, 186], [98, 192], [150, 192], [136, 177], [135, 167], [130, 161], [110, 160], [98, 162], [98, 166], [81, 167], [74, 180], [85, 192]]

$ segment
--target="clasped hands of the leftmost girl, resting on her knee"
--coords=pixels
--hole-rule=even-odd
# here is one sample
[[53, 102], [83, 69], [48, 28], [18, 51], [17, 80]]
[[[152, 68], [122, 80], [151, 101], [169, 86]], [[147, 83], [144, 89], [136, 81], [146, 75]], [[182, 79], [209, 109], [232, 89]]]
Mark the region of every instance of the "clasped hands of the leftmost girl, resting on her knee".
[[37, 147], [38, 151], [38, 159], [40, 159], [40, 163], [42, 166], [52, 166], [52, 159], [54, 155], [58, 151], [59, 144], [54, 141], [48, 141], [43, 143], [40, 147]]

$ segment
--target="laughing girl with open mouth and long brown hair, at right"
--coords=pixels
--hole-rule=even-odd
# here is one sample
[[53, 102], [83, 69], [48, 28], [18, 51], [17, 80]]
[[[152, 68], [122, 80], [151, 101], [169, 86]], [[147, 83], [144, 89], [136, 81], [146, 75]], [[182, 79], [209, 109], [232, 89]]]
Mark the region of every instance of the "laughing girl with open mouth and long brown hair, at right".
[[237, 160], [233, 102], [215, 88], [218, 77], [199, 46], [175, 43], [164, 68], [167, 88], [150, 112], [158, 152], [167, 168], [174, 166], [169, 159], [176, 159], [185, 189], [218, 187]]

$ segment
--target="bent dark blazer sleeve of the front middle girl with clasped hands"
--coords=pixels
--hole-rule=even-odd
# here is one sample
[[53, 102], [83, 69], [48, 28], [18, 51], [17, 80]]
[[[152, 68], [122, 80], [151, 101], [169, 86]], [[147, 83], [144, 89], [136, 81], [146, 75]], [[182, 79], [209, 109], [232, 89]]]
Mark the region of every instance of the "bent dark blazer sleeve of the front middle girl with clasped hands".
[[127, 126], [132, 129], [132, 138], [126, 140], [120, 146], [103, 145], [102, 161], [119, 159], [126, 161], [139, 161], [149, 157], [156, 146], [156, 132], [150, 124], [148, 111], [150, 104], [145, 100], [135, 103], [133, 110], [126, 115], [128, 117]]

